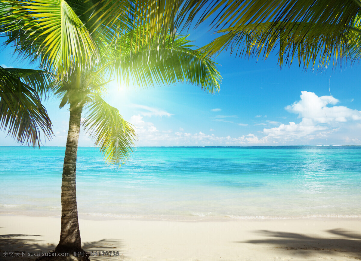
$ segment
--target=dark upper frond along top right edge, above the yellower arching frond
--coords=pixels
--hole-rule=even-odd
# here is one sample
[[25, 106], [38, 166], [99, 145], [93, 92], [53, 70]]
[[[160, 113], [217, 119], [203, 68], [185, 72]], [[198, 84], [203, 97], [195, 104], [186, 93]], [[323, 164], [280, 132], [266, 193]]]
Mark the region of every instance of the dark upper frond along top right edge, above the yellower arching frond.
[[340, 30], [349, 25], [359, 8], [360, 0], [186, 0], [182, 12], [188, 12], [190, 23], [202, 10], [198, 25], [215, 16], [210, 24], [217, 29], [271, 22], [280, 31], [292, 22], [309, 22], [337, 24]]

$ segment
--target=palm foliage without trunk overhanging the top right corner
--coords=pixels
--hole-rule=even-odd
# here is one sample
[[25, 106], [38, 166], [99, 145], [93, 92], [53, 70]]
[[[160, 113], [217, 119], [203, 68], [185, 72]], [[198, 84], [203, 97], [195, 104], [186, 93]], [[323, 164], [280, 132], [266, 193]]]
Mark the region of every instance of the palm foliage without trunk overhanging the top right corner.
[[211, 21], [221, 35], [201, 49], [207, 54], [267, 58], [276, 50], [281, 66], [297, 58], [305, 69], [360, 58], [360, 0], [186, 0], [187, 24], [200, 12], [197, 25]]

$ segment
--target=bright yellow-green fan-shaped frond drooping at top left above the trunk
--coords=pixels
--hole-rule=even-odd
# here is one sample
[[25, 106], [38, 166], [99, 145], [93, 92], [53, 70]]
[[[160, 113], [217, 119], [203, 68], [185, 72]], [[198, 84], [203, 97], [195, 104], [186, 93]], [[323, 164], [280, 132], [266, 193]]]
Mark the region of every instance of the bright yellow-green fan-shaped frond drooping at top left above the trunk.
[[[6, 2], [12, 4], [13, 13], [8, 16], [8, 23], [4, 27], [7, 31], [21, 27], [22, 30], [15, 30], [15, 35], [20, 38], [12, 40], [17, 41], [19, 48], [24, 48], [23, 52], [31, 52], [35, 58], [40, 57], [45, 67], [62, 77], [68, 76], [76, 63], [88, 67], [92, 65], [97, 49], [87, 28], [69, 5], [80, 4], [80, 1]], [[9, 23], [10, 19], [15, 18], [25, 23]]]

